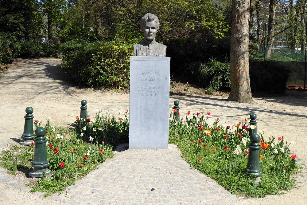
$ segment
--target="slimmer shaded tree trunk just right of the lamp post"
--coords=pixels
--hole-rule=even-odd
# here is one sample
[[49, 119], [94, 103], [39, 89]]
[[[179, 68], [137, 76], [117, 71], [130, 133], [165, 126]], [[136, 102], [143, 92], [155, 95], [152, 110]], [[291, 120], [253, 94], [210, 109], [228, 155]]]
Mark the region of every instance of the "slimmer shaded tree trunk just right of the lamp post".
[[274, 25], [276, 14], [276, 0], [270, 0], [269, 4], [269, 22], [268, 22], [268, 38], [267, 38], [267, 54], [266, 57], [272, 56], [272, 47], [274, 41]]

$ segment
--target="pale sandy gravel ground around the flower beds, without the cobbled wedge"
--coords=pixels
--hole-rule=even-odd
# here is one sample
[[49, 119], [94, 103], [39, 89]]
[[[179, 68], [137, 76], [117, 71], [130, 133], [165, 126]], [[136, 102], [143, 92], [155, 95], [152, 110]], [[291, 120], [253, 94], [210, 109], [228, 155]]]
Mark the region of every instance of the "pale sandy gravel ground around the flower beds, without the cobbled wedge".
[[[33, 107], [34, 119], [43, 120], [51, 117], [52, 125], [70, 124], [80, 114], [80, 101], [87, 100], [87, 111], [94, 118], [95, 109], [104, 113], [118, 114], [118, 110], [129, 109], [129, 94], [115, 93], [95, 89], [84, 89], [65, 81], [59, 69], [60, 60], [16, 59], [0, 75], [0, 144], [13, 142], [23, 133], [25, 108]], [[265, 130], [265, 137], [285, 136], [294, 141], [290, 150], [297, 155], [297, 161], [304, 169], [296, 177], [297, 188], [282, 195], [267, 196], [265, 199], [240, 199], [238, 204], [304, 204], [307, 201], [307, 92], [287, 90], [284, 95], [261, 95], [254, 97], [255, 104], [227, 102], [227, 94], [203, 94], [204, 90], [191, 88], [191, 93], [183, 91], [185, 84], [171, 91], [169, 107], [173, 101], [180, 102], [182, 114], [200, 112], [202, 108], [212, 114], [209, 125], [216, 118], [222, 124], [238, 123], [252, 112], [257, 114], [258, 130]], [[198, 93], [196, 93], [198, 92]], [[181, 94], [181, 95], [178, 95]], [[0, 204], [56, 203], [39, 194], [30, 194], [0, 183]], [[19, 194], [12, 194], [19, 193]]]

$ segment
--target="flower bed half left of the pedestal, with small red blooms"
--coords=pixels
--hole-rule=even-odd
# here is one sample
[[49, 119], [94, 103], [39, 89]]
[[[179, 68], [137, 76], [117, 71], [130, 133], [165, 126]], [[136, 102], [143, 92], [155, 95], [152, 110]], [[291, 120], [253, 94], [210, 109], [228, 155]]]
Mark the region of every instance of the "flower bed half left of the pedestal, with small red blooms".
[[[128, 112], [128, 111], [127, 111]], [[128, 139], [128, 114], [125, 119], [114, 116], [104, 117], [101, 112], [96, 114], [95, 122], [90, 118], [76, 118], [76, 128], [55, 128], [47, 119], [45, 126], [47, 140], [47, 158], [52, 175], [40, 178], [34, 185], [28, 184], [33, 191], [46, 192], [48, 196], [54, 192], [67, 189], [80, 177], [94, 170], [107, 158], [114, 156], [117, 143]], [[35, 127], [40, 127], [42, 120], [34, 120]], [[10, 174], [22, 171], [26, 174], [32, 169], [34, 160], [34, 143], [30, 146], [15, 144], [3, 150], [0, 163]], [[14, 176], [13, 176], [14, 177]]]

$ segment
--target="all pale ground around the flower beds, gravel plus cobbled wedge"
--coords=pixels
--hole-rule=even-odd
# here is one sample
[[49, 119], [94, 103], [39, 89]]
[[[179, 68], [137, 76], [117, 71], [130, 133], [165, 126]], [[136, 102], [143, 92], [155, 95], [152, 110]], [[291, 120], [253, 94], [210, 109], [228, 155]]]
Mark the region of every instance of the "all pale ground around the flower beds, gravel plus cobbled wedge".
[[[28, 106], [33, 107], [35, 119], [50, 116], [55, 126], [73, 122], [80, 113], [82, 99], [88, 102], [90, 116], [94, 116], [95, 109], [114, 114], [118, 109], [129, 108], [127, 94], [81, 89], [63, 81], [59, 64], [60, 60], [54, 58], [17, 59], [7, 74], [0, 76], [2, 146], [22, 134]], [[306, 164], [307, 93], [288, 91], [283, 96], [256, 97], [255, 104], [227, 102], [226, 98], [170, 96], [170, 108], [175, 100], [180, 101], [181, 113], [205, 108], [212, 113], [209, 124], [218, 117], [227, 125], [255, 112], [258, 129], [265, 130], [266, 137], [284, 135], [288, 141], [294, 140], [290, 149], [297, 154], [299, 163]], [[303, 173], [296, 178], [300, 187], [265, 199], [242, 199], [190, 168], [173, 145], [169, 150], [125, 150], [116, 152], [114, 158], [71, 186], [69, 197], [65, 193], [46, 198], [41, 193], [27, 193], [28, 187], [0, 168], [0, 204], [303, 204], [307, 201], [303, 166]], [[152, 187], [154, 191], [150, 191]]]

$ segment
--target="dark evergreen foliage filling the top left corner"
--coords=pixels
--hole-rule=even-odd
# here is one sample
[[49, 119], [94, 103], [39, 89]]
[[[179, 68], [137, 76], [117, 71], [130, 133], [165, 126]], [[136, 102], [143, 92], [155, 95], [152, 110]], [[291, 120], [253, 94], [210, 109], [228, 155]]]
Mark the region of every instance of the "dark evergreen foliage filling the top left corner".
[[0, 1], [0, 63], [10, 63], [25, 39], [35, 39], [41, 22], [36, 1]]

